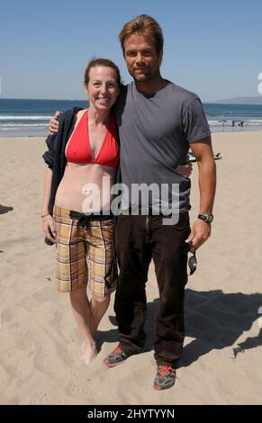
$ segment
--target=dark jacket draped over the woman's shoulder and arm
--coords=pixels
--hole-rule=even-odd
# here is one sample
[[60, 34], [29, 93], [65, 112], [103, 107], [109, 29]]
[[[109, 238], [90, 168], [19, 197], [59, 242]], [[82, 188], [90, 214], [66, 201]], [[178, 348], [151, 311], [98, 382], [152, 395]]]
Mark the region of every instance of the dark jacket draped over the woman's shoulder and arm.
[[49, 212], [53, 213], [56, 193], [60, 181], [64, 175], [67, 164], [67, 157], [65, 156], [65, 149], [72, 130], [74, 129], [76, 115], [80, 107], [74, 107], [59, 116], [59, 131], [57, 134], [50, 135], [47, 140], [48, 151], [43, 154], [43, 159], [46, 164], [52, 169], [52, 182], [50, 189]]

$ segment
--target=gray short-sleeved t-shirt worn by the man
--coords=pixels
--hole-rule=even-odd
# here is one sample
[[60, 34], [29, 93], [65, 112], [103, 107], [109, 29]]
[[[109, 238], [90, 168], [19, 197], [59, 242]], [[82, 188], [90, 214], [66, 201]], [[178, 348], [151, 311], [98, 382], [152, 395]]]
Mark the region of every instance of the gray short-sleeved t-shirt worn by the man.
[[[210, 135], [210, 129], [198, 96], [167, 82], [153, 94], [141, 93], [132, 82], [122, 87], [114, 105], [126, 188], [122, 208], [149, 205], [156, 214], [159, 208], [164, 213], [190, 209], [190, 180], [176, 172], [176, 166], [185, 163], [189, 144]], [[140, 184], [146, 185], [138, 196]], [[147, 197], [143, 190], [149, 185]]]

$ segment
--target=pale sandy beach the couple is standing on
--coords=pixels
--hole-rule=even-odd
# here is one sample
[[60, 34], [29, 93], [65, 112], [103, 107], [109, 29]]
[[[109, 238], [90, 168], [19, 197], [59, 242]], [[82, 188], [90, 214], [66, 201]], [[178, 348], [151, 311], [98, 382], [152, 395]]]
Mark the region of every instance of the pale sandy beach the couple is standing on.
[[[113, 298], [88, 367], [68, 294], [55, 287], [55, 248], [43, 242], [44, 138], [0, 138], [0, 404], [261, 404], [262, 130], [212, 135], [217, 193], [212, 237], [185, 293], [185, 349], [173, 388], [153, 391], [154, 267], [147, 285], [147, 350], [113, 369]], [[197, 165], [192, 175], [198, 214]], [[259, 307], [261, 309], [259, 310]], [[260, 317], [259, 317], [260, 314]], [[260, 319], [260, 320], [259, 320]]]

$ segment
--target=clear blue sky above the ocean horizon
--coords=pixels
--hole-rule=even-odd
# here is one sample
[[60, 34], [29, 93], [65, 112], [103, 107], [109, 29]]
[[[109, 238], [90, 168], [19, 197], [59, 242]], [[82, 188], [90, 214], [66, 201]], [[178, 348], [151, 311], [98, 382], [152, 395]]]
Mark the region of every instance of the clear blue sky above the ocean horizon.
[[90, 58], [111, 58], [131, 81], [118, 34], [149, 14], [165, 44], [161, 75], [203, 102], [258, 95], [262, 0], [3, 0], [0, 98], [85, 99]]

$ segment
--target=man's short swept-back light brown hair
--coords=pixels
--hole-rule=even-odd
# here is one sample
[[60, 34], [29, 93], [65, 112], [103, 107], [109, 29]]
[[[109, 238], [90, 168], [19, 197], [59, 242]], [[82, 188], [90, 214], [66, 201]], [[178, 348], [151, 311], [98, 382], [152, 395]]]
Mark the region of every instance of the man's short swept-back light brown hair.
[[160, 25], [148, 14], [140, 14], [132, 21], [125, 23], [122, 27], [118, 39], [121, 42], [122, 53], [124, 55], [124, 42], [131, 35], [140, 33], [154, 41], [158, 54], [163, 51], [164, 37]]

